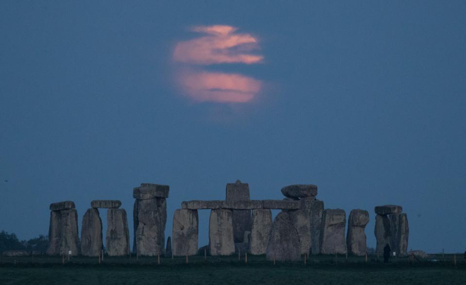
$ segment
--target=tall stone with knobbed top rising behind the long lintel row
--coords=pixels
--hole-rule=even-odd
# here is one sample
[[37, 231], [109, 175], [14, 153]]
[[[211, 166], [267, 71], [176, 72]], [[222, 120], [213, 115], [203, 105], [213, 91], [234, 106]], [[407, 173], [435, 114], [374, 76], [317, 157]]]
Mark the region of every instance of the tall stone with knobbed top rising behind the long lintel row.
[[[236, 180], [227, 183], [225, 201], [250, 201], [249, 184]], [[251, 231], [251, 210], [233, 210], [233, 239], [234, 242], [243, 242], [244, 233]]]

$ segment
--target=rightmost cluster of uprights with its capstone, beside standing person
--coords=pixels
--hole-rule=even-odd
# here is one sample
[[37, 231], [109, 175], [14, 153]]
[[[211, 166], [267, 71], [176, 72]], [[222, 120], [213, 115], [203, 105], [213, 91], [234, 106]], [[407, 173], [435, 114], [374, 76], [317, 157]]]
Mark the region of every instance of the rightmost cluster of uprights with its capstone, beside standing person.
[[376, 251], [383, 253], [385, 244], [396, 255], [406, 255], [408, 250], [409, 225], [408, 217], [402, 213], [403, 208], [397, 205], [375, 207], [375, 237]]

